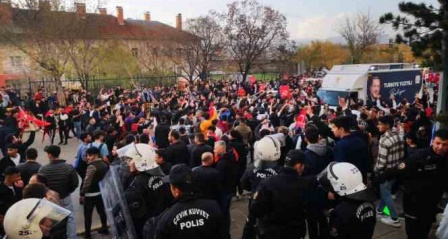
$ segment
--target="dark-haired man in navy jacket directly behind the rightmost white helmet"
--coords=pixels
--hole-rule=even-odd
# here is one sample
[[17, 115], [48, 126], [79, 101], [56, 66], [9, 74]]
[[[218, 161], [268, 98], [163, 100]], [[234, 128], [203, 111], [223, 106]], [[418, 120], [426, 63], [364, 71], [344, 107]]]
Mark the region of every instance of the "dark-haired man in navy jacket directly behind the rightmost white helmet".
[[355, 165], [361, 171], [363, 179], [367, 180], [367, 173], [371, 171], [369, 149], [361, 137], [351, 133], [352, 122], [350, 116], [339, 116], [330, 121], [331, 131], [339, 138], [334, 148], [334, 161]]

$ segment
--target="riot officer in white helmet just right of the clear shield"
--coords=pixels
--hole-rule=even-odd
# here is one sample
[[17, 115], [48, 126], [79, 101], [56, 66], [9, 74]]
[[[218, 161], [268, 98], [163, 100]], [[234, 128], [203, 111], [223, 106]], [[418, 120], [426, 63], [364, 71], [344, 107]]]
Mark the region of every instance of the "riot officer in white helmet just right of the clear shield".
[[148, 144], [133, 144], [125, 153], [132, 159], [129, 168], [135, 174], [125, 197], [138, 238], [142, 237], [146, 220], [161, 214], [172, 201], [169, 184], [163, 182], [164, 174], [155, 154]]

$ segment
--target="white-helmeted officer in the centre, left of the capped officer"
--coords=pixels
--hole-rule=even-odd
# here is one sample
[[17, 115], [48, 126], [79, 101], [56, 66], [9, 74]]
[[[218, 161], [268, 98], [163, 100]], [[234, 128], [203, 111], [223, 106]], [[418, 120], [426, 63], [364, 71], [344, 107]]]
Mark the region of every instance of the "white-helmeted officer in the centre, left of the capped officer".
[[[251, 192], [251, 197], [249, 198], [249, 209], [252, 203], [252, 196], [257, 190], [257, 187], [260, 184], [261, 180], [269, 178], [273, 175], [277, 175], [277, 161], [279, 160], [280, 155], [280, 142], [270, 135], [267, 135], [255, 142], [255, 162], [247, 167], [246, 171], [241, 177], [242, 188]], [[255, 222], [256, 219], [249, 214], [243, 230], [243, 239], [255, 238]]]

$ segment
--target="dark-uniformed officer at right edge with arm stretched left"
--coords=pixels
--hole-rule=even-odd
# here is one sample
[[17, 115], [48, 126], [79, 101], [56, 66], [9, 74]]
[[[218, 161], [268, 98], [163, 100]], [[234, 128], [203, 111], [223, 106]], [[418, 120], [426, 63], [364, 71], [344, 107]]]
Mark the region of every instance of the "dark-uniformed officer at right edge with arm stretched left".
[[403, 209], [408, 239], [426, 239], [437, 204], [448, 189], [448, 131], [438, 130], [432, 146], [419, 149], [379, 180], [399, 176], [403, 182]]

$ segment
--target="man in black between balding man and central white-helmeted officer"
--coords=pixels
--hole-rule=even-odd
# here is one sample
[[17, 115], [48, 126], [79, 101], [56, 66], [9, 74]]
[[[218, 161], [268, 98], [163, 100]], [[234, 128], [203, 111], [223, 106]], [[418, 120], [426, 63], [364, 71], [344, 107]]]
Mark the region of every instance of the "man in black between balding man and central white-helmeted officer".
[[224, 238], [230, 239], [230, 203], [235, 195], [235, 182], [238, 170], [235, 152], [227, 147], [225, 141], [217, 141], [214, 147], [215, 168], [221, 175], [222, 187], [218, 193], [218, 204], [223, 214]]

